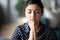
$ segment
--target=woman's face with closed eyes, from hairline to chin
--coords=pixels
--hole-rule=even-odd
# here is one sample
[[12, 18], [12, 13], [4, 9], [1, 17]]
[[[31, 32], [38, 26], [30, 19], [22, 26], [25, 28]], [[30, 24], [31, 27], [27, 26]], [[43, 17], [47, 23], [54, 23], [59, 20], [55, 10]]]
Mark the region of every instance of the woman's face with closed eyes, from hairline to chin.
[[25, 16], [28, 22], [36, 23], [41, 18], [41, 8], [36, 4], [29, 4], [25, 9]]

